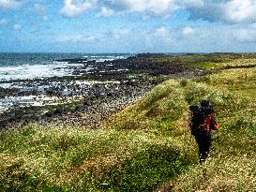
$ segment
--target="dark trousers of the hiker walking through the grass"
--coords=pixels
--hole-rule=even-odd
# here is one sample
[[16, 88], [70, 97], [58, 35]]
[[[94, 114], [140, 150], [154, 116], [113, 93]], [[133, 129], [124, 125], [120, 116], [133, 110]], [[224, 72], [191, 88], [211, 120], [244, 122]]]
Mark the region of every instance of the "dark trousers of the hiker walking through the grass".
[[205, 132], [195, 133], [195, 139], [198, 144], [198, 155], [200, 163], [203, 163], [207, 158], [211, 147], [211, 134]]

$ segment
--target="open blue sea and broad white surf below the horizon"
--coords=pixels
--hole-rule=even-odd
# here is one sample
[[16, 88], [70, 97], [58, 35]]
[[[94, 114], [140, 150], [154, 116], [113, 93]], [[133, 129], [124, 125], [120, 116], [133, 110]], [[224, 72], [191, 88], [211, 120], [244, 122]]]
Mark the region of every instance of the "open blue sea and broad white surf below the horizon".
[[[34, 78], [62, 77], [72, 74], [65, 59], [86, 59], [96, 62], [126, 59], [131, 53], [0, 53], [1, 81], [24, 80]], [[83, 64], [71, 64], [81, 66]]]

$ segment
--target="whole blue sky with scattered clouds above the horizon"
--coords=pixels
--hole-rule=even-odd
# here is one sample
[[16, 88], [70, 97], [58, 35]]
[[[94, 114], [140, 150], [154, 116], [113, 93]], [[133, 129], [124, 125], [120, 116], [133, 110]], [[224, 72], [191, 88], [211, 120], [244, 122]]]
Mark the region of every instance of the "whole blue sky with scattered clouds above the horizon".
[[256, 52], [256, 0], [0, 0], [0, 52]]

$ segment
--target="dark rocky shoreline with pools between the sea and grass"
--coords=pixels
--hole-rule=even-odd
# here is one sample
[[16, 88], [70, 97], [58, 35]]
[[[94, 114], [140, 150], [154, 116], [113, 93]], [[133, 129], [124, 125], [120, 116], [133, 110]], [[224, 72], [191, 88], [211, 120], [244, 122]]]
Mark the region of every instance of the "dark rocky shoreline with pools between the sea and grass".
[[[26, 100], [0, 111], [0, 129], [31, 122], [97, 128], [159, 82], [197, 75], [188, 66], [153, 62], [156, 56], [139, 54], [99, 63], [65, 59], [71, 76], [1, 81], [6, 86], [0, 88], [0, 99]], [[83, 66], [72, 66], [74, 62]]]

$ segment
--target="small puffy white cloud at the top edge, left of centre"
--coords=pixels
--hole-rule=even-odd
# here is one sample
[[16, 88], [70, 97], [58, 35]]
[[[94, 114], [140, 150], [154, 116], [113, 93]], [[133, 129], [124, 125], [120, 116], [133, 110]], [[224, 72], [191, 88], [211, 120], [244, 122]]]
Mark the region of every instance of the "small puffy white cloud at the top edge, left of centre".
[[67, 17], [74, 17], [96, 6], [97, 3], [98, 0], [65, 0], [60, 13]]

